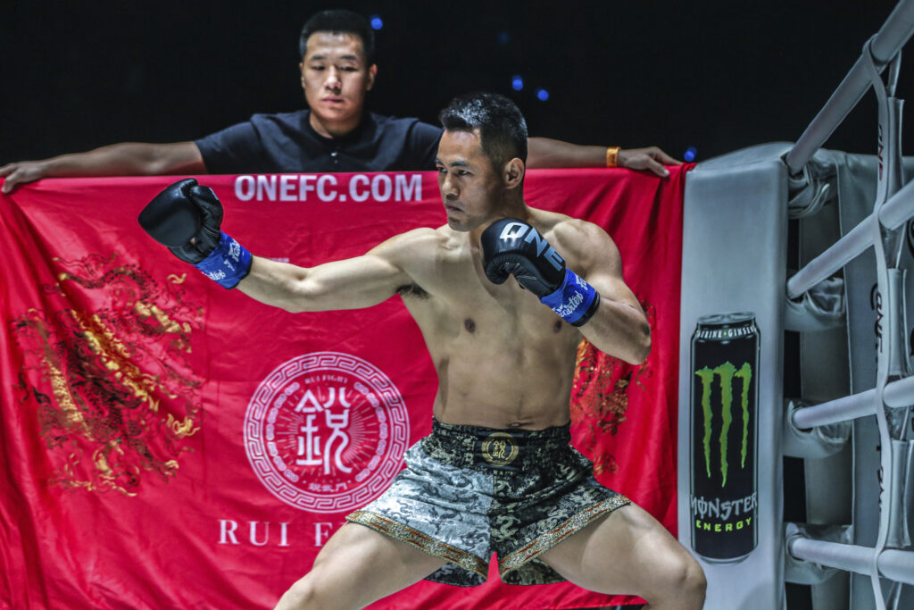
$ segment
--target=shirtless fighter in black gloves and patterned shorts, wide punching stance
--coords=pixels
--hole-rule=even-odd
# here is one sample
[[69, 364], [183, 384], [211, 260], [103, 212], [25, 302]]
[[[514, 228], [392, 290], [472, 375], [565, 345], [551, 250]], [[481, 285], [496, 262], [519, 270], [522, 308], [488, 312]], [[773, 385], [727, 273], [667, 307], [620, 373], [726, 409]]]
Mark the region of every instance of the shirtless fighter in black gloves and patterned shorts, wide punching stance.
[[505, 583], [569, 580], [640, 595], [654, 609], [701, 608], [706, 584], [695, 559], [601, 486], [569, 444], [581, 337], [632, 363], [650, 351], [619, 251], [589, 222], [526, 206], [526, 122], [513, 102], [462, 96], [440, 118], [447, 225], [400, 234], [363, 256], [312, 268], [251, 256], [220, 231], [218, 199], [193, 178], [140, 215], [150, 235], [211, 279], [291, 312], [358, 309], [400, 294], [438, 372], [432, 433], [276, 607], [358, 608], [423, 578], [479, 584], [495, 551]]

